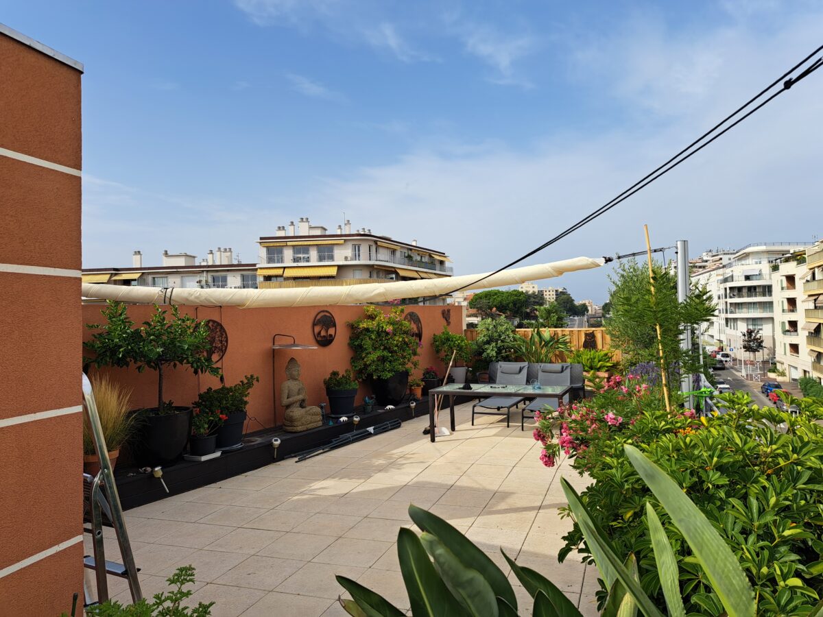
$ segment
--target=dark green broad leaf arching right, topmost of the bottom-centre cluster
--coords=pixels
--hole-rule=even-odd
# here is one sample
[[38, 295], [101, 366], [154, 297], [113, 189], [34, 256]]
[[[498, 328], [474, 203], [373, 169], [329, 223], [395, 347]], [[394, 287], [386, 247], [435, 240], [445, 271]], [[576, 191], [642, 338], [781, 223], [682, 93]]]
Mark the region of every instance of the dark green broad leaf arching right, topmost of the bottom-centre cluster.
[[495, 596], [500, 596], [507, 601], [514, 610], [517, 610], [517, 597], [514, 596], [509, 579], [497, 564], [489, 559], [489, 556], [478, 549], [466, 536], [445, 522], [442, 518], [426, 512], [415, 505], [409, 506], [409, 516], [417, 527], [423, 531], [428, 531], [432, 536], [449, 547], [461, 563], [477, 570], [481, 573], [486, 582], [491, 586]]

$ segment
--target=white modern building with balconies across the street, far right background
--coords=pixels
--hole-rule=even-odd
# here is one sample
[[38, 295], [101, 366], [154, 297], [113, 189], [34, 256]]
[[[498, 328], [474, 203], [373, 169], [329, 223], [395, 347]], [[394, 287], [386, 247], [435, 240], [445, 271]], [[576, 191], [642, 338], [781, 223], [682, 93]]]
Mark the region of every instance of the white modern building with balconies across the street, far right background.
[[[704, 343], [722, 346], [742, 357], [742, 337], [747, 329], [760, 330], [764, 355], [774, 355], [774, 293], [771, 262], [811, 242], [754, 243], [739, 249], [725, 264], [691, 276], [705, 285], [718, 304], [718, 314], [704, 332]], [[722, 261], [722, 260], [721, 260]], [[779, 326], [779, 322], [778, 322]]]

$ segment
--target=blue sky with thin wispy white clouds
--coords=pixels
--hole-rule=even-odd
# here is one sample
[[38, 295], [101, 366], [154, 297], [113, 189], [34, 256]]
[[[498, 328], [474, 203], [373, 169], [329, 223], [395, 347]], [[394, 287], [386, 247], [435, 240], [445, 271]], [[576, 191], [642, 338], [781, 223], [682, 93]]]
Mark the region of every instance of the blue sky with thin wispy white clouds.
[[[309, 216], [453, 255], [541, 244], [821, 44], [823, 3], [5, 2], [86, 65], [84, 266], [203, 256]], [[823, 76], [532, 257], [821, 227]], [[561, 279], [602, 301], [606, 269]], [[551, 281], [546, 281], [546, 285]]]

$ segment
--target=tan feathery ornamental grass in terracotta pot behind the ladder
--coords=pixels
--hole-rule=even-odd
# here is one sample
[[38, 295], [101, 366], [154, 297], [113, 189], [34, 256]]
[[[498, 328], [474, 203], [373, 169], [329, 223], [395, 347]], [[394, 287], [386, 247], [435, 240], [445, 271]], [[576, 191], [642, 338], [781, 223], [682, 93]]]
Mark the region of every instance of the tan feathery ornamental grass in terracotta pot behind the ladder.
[[[129, 412], [132, 390], [112, 381], [107, 375], [93, 375], [90, 381], [109, 461], [114, 469], [120, 448], [132, 436], [137, 421], [137, 416]], [[92, 476], [100, 471], [100, 458], [97, 457], [95, 440], [86, 415], [83, 415], [83, 471]]]

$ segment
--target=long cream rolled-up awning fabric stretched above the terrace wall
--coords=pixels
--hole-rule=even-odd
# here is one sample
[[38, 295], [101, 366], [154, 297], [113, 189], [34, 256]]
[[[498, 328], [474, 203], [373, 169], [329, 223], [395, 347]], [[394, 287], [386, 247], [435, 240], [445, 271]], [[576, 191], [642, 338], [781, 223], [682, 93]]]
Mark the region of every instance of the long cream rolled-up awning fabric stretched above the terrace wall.
[[[602, 258], [574, 257], [561, 262], [543, 263], [504, 270], [477, 282], [486, 274], [466, 274], [419, 281], [385, 281], [366, 285], [341, 285], [328, 287], [298, 287], [277, 290], [226, 290], [226, 289], [174, 289], [174, 304], [191, 306], [221, 305], [241, 308], [280, 306], [328, 306], [332, 304], [369, 304], [388, 302], [399, 298], [423, 298], [447, 294], [466, 286], [466, 290], [482, 290], [501, 285], [518, 285], [527, 281], [540, 281], [560, 276], [566, 272], [601, 267]], [[126, 287], [122, 285], [82, 285], [86, 298], [167, 304], [169, 290], [156, 287]]]

